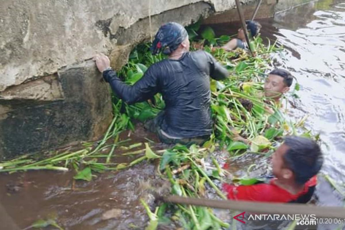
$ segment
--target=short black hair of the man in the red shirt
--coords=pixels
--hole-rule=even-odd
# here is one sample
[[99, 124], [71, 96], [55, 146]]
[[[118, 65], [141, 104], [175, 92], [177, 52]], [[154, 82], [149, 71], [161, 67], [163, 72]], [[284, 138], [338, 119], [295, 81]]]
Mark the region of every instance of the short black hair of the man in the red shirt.
[[297, 184], [304, 184], [315, 176], [323, 164], [323, 156], [319, 145], [312, 139], [297, 136], [284, 138], [289, 148], [283, 155], [287, 167], [295, 174]]

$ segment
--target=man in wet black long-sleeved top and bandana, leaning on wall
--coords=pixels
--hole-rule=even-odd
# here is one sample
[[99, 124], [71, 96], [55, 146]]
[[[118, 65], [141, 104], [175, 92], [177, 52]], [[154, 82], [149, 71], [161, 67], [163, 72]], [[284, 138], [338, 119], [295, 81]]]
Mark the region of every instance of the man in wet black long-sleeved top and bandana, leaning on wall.
[[145, 124], [162, 142], [202, 144], [209, 139], [212, 129], [209, 77], [225, 79], [228, 71], [205, 51], [189, 52], [187, 31], [175, 22], [160, 27], [151, 52], [163, 52], [168, 59], [150, 66], [133, 86], [117, 77], [105, 55], [94, 60], [114, 93], [128, 104], [146, 101], [158, 92], [162, 94], [164, 111]]

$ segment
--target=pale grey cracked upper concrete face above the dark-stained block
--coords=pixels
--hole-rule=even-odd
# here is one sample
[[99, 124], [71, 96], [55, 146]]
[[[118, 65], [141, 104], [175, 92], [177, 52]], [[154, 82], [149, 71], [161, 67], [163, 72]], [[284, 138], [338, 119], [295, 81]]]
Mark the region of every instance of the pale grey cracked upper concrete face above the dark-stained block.
[[[176, 9], [183, 10], [195, 3], [203, 3], [215, 12], [235, 6], [235, 0], [3, 0], [0, 91], [28, 79], [56, 73], [63, 66], [92, 58], [96, 52], [109, 54], [118, 45], [138, 43], [137, 34], [142, 34], [141, 31], [133, 31], [132, 38], [127, 39], [129, 43], [117, 44], [117, 37], [149, 14], [177, 12]], [[198, 11], [189, 11], [184, 18], [197, 14]], [[155, 33], [166, 21], [190, 23], [190, 20], [179, 19], [164, 17], [164, 21], [152, 25], [151, 32]], [[147, 30], [149, 25], [144, 27]]]

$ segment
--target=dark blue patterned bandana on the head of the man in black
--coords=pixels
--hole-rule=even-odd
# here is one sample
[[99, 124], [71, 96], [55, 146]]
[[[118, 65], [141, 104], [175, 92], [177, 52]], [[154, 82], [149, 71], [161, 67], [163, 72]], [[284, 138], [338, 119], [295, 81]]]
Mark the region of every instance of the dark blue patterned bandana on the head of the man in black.
[[155, 36], [155, 40], [152, 42], [152, 46], [150, 48], [151, 53], [156, 55], [163, 52], [164, 54], [169, 55], [178, 48], [187, 36], [188, 33], [182, 25], [176, 22], [163, 24], [159, 28]]

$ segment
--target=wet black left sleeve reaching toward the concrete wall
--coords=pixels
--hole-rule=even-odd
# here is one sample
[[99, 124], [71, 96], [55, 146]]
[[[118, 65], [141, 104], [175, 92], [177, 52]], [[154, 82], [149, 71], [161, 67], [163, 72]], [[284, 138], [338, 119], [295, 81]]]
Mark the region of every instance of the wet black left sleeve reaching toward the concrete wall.
[[114, 70], [103, 72], [103, 78], [110, 84], [112, 91], [128, 104], [150, 99], [158, 92], [158, 76], [156, 66], [147, 69], [144, 76], [133, 86], [122, 82]]

